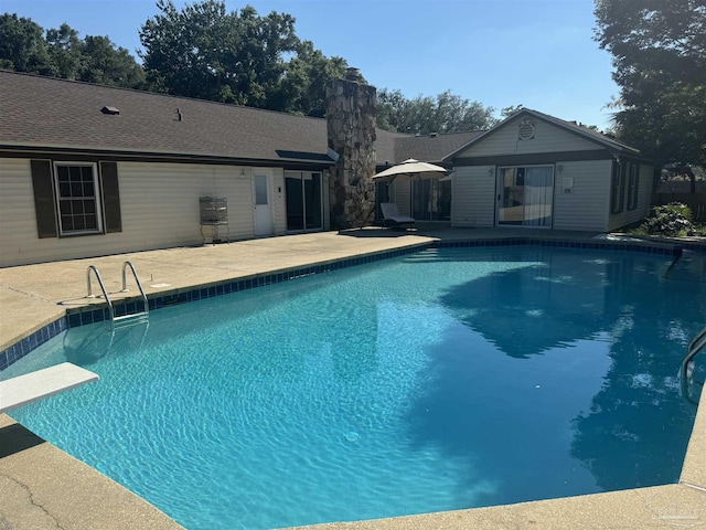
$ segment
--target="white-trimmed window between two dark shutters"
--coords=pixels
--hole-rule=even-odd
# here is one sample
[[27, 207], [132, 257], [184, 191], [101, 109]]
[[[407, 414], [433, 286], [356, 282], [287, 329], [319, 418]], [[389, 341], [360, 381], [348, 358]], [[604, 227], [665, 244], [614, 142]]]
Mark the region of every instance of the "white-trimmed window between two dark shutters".
[[55, 162], [54, 179], [60, 234], [101, 232], [96, 165]]

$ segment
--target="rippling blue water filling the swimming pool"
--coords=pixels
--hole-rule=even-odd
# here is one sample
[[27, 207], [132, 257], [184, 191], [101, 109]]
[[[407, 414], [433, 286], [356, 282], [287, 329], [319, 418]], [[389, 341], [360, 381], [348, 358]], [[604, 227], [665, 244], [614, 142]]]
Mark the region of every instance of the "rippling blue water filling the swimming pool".
[[430, 250], [69, 329], [2, 372], [100, 381], [13, 411], [189, 529], [675, 483], [706, 284], [667, 256]]

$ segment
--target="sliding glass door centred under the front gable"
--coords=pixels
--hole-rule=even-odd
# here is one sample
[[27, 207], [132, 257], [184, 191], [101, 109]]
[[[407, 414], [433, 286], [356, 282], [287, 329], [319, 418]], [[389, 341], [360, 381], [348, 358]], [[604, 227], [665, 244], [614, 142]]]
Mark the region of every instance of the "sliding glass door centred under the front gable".
[[498, 224], [552, 227], [554, 166], [498, 168]]

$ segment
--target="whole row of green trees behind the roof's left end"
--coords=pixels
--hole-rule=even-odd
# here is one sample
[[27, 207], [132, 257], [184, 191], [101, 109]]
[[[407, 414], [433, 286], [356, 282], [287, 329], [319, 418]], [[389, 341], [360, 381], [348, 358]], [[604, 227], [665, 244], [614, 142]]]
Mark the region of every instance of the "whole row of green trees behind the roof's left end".
[[0, 15], [0, 67], [101, 85], [143, 88], [145, 73], [124, 47], [107, 36], [78, 38], [64, 23], [46, 31], [17, 14]]

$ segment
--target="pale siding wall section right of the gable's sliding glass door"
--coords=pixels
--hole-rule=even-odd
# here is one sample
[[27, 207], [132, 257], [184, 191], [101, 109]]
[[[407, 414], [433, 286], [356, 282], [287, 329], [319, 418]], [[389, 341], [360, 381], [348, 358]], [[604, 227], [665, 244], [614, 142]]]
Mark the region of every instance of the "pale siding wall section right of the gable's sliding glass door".
[[[608, 230], [611, 160], [557, 162], [554, 191], [554, 229]], [[574, 179], [564, 193], [564, 179]]]

